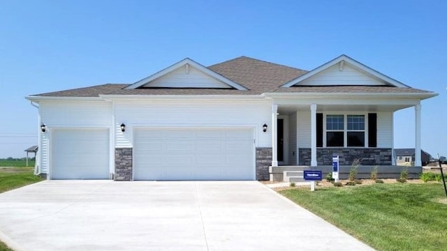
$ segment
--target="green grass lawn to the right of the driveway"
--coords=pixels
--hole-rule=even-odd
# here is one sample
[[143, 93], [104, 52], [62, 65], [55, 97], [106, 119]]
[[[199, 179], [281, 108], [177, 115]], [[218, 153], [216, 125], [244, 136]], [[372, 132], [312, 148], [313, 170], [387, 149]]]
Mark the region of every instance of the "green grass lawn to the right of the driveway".
[[[318, 188], [317, 188], [318, 189]], [[441, 183], [298, 188], [280, 192], [376, 250], [445, 250]]]

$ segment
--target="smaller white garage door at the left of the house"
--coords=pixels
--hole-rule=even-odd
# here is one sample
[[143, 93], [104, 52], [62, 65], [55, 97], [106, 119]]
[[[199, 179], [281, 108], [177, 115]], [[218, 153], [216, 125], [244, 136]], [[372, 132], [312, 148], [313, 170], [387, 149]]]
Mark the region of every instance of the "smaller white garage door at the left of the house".
[[108, 178], [108, 129], [55, 129], [51, 140], [51, 178]]

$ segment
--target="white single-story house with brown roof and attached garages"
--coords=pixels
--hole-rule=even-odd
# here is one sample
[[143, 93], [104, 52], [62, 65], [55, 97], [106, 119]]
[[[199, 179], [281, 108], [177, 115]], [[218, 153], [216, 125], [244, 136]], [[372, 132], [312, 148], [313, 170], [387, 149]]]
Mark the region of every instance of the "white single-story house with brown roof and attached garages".
[[393, 112], [413, 89], [342, 55], [314, 70], [241, 56], [184, 59], [133, 84], [27, 96], [38, 108], [38, 172], [50, 179], [268, 180], [272, 167], [395, 165]]

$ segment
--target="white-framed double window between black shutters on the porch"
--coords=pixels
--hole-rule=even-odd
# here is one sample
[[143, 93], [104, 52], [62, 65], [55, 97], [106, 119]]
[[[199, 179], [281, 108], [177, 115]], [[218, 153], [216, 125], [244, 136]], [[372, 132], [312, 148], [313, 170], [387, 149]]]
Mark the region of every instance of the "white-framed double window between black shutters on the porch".
[[326, 115], [326, 146], [365, 147], [365, 115]]

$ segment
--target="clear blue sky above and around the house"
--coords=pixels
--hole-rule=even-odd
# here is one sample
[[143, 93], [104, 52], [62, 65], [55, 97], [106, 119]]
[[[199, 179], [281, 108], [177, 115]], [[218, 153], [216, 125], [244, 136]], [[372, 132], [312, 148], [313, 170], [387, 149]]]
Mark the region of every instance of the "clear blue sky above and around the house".
[[[0, 1], [0, 158], [37, 143], [30, 94], [133, 83], [185, 57], [312, 70], [340, 54], [439, 93], [422, 102], [422, 146], [447, 155], [446, 13], [444, 0]], [[412, 108], [395, 113], [395, 147], [414, 147]]]

